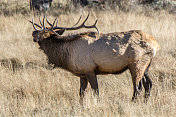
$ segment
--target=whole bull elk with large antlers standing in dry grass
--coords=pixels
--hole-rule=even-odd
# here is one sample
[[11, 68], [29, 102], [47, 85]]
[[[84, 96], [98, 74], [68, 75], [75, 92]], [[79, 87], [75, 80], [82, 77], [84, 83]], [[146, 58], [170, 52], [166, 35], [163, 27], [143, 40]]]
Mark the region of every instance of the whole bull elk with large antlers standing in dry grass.
[[[50, 63], [63, 68], [80, 77], [80, 99], [84, 97], [88, 82], [95, 94], [99, 95], [97, 75], [119, 74], [130, 70], [133, 82], [132, 100], [136, 99], [142, 89], [145, 89], [145, 99], [150, 95], [152, 81], [148, 76], [148, 69], [152, 58], [160, 46], [156, 40], [140, 31], [114, 32], [99, 34], [93, 25], [85, 25], [84, 22], [73, 27], [58, 27], [55, 19], [51, 24], [47, 18], [40, 20], [40, 25], [33, 24], [33, 41], [37, 42], [44, 51]], [[50, 27], [45, 26], [45, 21]], [[56, 24], [56, 25], [55, 25]], [[40, 29], [37, 29], [36, 26]], [[66, 30], [81, 28], [95, 28], [98, 32], [83, 32], [68, 36], [62, 36]]]

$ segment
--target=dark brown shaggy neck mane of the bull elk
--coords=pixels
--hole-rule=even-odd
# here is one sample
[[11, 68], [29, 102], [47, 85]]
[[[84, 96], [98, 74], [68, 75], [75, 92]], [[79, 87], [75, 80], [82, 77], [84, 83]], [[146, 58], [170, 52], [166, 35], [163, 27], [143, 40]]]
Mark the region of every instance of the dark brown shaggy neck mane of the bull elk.
[[54, 35], [47, 39], [39, 41], [40, 49], [44, 51], [48, 57], [49, 63], [55, 65], [55, 67], [61, 67], [68, 70], [69, 62], [69, 48], [67, 47], [69, 42], [57, 39]]

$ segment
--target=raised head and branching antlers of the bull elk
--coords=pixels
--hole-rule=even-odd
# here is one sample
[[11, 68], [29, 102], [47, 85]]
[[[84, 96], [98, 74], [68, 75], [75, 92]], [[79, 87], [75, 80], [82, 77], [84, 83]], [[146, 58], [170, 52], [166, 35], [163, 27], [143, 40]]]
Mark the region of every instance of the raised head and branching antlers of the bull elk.
[[[51, 24], [46, 18], [46, 21], [50, 25], [50, 27], [45, 27], [45, 16], [43, 18], [43, 22], [39, 18], [41, 26], [34, 23], [34, 21], [32, 19], [32, 21], [29, 21], [29, 22], [33, 24], [33, 28], [35, 29], [35, 31], [33, 31], [33, 33], [32, 33], [33, 41], [39, 42], [39, 41], [42, 41], [43, 39], [49, 38], [51, 35], [56, 35], [56, 36], [60, 37], [65, 32], [65, 30], [77, 30], [80, 28], [95, 28], [99, 34], [98, 28], [96, 27], [97, 20], [95, 21], [95, 23], [93, 25], [90, 25], [90, 26], [85, 25], [85, 22], [87, 21], [88, 18], [89, 18], [89, 14], [80, 26], [76, 26], [79, 23], [79, 21], [81, 20], [81, 17], [80, 17], [79, 20], [77, 21], [77, 23], [70, 28], [58, 27], [57, 26], [57, 24], [58, 24], [57, 18], [54, 20], [53, 24]], [[55, 23], [56, 23], [56, 25], [55, 25]], [[40, 29], [37, 29], [35, 26], [39, 27]]]

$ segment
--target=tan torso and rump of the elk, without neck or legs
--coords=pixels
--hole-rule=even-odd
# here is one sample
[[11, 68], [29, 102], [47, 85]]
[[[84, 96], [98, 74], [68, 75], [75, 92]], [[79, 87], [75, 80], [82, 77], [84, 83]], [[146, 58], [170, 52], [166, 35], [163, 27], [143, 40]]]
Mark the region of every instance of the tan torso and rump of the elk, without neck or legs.
[[93, 32], [86, 32], [77, 37], [68, 45], [71, 51], [68, 68], [78, 76], [97, 67], [100, 73], [121, 71], [141, 60], [142, 63], [150, 61], [160, 48], [153, 37], [141, 31], [101, 34], [99, 38]]

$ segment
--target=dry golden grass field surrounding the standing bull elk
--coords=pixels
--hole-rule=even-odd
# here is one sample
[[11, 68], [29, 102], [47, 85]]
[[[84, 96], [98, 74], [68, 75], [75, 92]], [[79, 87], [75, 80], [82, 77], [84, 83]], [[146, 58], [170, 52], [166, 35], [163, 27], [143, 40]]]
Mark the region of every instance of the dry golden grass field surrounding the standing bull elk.
[[[59, 15], [60, 26], [72, 26], [87, 11]], [[52, 69], [38, 45], [32, 41], [32, 14], [0, 15], [0, 116], [103, 116], [174, 117], [176, 115], [176, 16], [161, 11], [152, 16], [114, 11], [91, 11], [88, 24], [98, 19], [101, 33], [142, 30], [161, 46], [153, 59], [149, 76], [151, 97], [144, 103], [141, 92], [131, 101], [133, 88], [129, 71], [120, 75], [99, 75], [100, 101], [86, 90], [79, 104], [79, 78], [60, 68]], [[38, 22], [38, 16], [35, 16]], [[52, 21], [55, 17], [49, 15]], [[93, 31], [96, 31], [92, 29]], [[71, 33], [87, 31], [77, 30]]]

